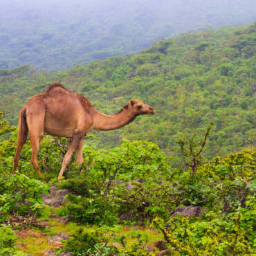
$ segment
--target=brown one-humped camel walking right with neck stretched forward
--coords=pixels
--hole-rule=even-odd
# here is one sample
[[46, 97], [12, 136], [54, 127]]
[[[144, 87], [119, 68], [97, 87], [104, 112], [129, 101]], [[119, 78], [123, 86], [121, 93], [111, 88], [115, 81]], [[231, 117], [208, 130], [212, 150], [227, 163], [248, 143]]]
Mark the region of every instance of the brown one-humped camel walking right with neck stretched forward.
[[75, 149], [77, 165], [79, 167], [82, 165], [83, 138], [88, 131], [118, 129], [142, 114], [152, 115], [154, 109], [139, 100], [130, 100], [115, 115], [104, 115], [94, 109], [91, 102], [83, 95], [72, 93], [62, 84], [55, 82], [44, 93], [30, 98], [19, 112], [18, 142], [13, 161], [14, 170], [17, 170], [19, 154], [26, 142], [28, 131], [32, 143], [31, 163], [39, 176], [42, 174], [37, 163], [37, 153], [44, 132], [53, 136], [72, 138], [58, 176], [60, 180]]

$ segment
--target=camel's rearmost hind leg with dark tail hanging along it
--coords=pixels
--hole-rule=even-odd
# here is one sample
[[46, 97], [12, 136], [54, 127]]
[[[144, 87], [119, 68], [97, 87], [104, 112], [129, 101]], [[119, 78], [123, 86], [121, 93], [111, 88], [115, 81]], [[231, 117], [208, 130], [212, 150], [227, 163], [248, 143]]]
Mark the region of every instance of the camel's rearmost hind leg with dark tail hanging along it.
[[26, 108], [21, 109], [19, 112], [19, 128], [18, 128], [18, 141], [15, 157], [13, 159], [14, 171], [17, 170], [19, 163], [19, 155], [21, 154], [21, 149], [26, 143], [28, 137], [28, 125], [26, 121]]

